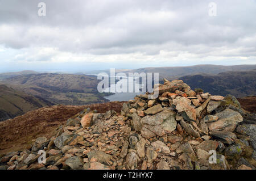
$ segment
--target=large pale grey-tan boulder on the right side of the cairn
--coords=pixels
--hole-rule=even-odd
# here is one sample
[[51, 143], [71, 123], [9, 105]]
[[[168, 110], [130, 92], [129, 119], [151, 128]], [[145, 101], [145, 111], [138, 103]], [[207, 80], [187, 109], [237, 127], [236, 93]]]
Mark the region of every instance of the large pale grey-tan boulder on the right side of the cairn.
[[243, 117], [239, 112], [226, 108], [224, 111], [216, 113], [214, 116], [218, 116], [219, 119], [213, 123], [208, 124], [209, 131], [230, 131], [233, 132], [236, 129], [237, 123], [243, 121]]

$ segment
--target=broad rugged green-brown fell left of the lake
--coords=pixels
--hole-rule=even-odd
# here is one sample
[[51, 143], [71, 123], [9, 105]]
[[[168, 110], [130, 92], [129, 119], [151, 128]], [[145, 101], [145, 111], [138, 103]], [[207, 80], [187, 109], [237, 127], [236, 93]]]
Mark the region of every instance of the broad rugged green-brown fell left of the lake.
[[108, 102], [97, 91], [95, 76], [74, 74], [28, 74], [4, 79], [3, 84], [54, 104], [85, 105]]

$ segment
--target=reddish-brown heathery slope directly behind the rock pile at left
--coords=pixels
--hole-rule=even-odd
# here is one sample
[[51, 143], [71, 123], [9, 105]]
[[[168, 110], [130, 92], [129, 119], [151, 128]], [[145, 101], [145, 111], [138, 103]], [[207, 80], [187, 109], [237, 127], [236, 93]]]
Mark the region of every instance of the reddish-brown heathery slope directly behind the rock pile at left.
[[14, 119], [2, 121], [0, 123], [0, 154], [25, 149], [31, 145], [31, 140], [38, 136], [52, 137], [56, 134], [56, 128], [85, 108], [89, 107], [98, 112], [108, 110], [120, 112], [122, 104], [123, 102], [109, 102], [87, 106], [47, 106]]

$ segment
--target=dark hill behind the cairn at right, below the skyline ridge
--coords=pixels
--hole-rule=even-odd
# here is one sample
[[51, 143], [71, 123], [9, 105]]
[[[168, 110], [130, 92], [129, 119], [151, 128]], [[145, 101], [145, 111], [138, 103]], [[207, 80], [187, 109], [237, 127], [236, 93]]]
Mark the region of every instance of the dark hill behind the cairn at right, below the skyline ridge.
[[192, 89], [201, 88], [213, 95], [232, 94], [237, 97], [256, 95], [256, 69], [228, 71], [217, 75], [195, 74], [180, 77]]

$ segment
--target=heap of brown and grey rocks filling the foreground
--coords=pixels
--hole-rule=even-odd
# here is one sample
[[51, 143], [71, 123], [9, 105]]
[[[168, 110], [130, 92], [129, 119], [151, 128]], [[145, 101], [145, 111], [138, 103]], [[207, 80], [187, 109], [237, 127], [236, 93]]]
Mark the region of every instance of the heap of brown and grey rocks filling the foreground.
[[77, 113], [56, 136], [1, 155], [0, 169], [255, 169], [255, 120], [236, 98], [195, 92], [181, 80], [155, 89], [158, 98], [138, 95], [121, 112]]

